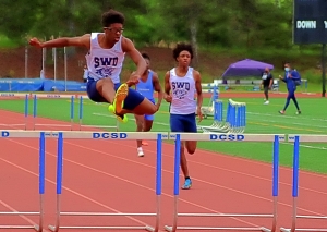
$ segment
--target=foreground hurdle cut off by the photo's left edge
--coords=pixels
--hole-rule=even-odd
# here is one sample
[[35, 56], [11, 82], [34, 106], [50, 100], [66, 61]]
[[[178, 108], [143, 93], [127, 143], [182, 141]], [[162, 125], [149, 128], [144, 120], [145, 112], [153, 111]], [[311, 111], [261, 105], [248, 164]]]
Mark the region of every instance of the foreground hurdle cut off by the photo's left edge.
[[44, 229], [44, 194], [45, 194], [45, 133], [27, 131], [0, 131], [0, 138], [39, 138], [39, 211], [1, 211], [1, 216], [39, 216], [39, 224], [34, 225], [0, 225], [1, 229], [34, 229], [41, 232]]

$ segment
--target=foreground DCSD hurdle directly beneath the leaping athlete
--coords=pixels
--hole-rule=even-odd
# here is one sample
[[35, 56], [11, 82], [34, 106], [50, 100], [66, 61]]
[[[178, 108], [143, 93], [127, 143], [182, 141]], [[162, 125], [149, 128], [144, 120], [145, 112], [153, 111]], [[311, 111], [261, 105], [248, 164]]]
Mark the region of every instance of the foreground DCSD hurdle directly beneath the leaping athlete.
[[[146, 230], [152, 232], [157, 232], [159, 230], [159, 218], [160, 218], [160, 197], [161, 197], [161, 143], [162, 139], [168, 139], [168, 133], [140, 133], [140, 132], [120, 132], [120, 133], [109, 133], [109, 132], [49, 132], [49, 136], [58, 137], [58, 160], [57, 160], [57, 219], [55, 225], [49, 225], [48, 228], [58, 232], [60, 229], [78, 229], [78, 230], [90, 230], [90, 229], [102, 229], [102, 230]], [[156, 212], [135, 212], [135, 213], [124, 213], [124, 212], [69, 212], [61, 211], [61, 194], [62, 194], [62, 160], [63, 160], [63, 139], [146, 139], [146, 141], [157, 141], [157, 167], [156, 167]], [[152, 216], [156, 217], [155, 227], [90, 227], [90, 225], [61, 225], [60, 219], [62, 216], [70, 217], [126, 217], [126, 216]]]

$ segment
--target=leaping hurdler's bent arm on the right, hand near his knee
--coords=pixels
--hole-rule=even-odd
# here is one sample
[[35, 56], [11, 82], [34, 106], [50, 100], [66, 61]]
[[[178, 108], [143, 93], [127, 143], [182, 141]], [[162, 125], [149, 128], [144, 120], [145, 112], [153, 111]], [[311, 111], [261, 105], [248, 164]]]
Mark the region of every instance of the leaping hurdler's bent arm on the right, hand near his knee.
[[134, 44], [125, 37], [122, 39], [122, 50], [126, 52], [136, 64], [136, 71], [131, 74], [130, 80], [126, 82], [129, 86], [132, 86], [138, 83], [142, 74], [146, 71], [146, 62]]

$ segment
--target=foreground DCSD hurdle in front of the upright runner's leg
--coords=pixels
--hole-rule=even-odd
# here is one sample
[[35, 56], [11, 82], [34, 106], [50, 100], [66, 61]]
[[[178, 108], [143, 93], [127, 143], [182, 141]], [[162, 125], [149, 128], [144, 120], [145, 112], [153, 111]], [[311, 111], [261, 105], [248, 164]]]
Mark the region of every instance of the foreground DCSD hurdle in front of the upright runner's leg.
[[[284, 141], [284, 135], [271, 135], [271, 134], [214, 134], [214, 133], [170, 133], [170, 139], [175, 141], [175, 157], [174, 157], [174, 209], [173, 209], [173, 222], [172, 225], [165, 225], [166, 231], [175, 232], [177, 230], [234, 230], [234, 231], [264, 231], [275, 232], [277, 227], [277, 197], [278, 197], [278, 179], [279, 179], [279, 142]], [[181, 141], [210, 141], [210, 142], [272, 142], [272, 200], [274, 208], [271, 213], [181, 213], [178, 211], [179, 202], [179, 176], [180, 176], [180, 146]], [[259, 228], [219, 228], [219, 227], [178, 227], [179, 217], [232, 217], [232, 218], [271, 218], [271, 229], [265, 227]]]

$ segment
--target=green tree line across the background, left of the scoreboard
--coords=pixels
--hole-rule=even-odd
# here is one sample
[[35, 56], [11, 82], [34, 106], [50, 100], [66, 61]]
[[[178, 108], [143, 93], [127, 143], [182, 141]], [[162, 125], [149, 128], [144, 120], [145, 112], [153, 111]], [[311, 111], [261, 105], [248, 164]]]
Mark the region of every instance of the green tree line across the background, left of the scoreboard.
[[1, 0], [0, 34], [76, 36], [101, 30], [100, 15], [124, 13], [124, 35], [142, 45], [191, 41], [209, 48], [292, 46], [292, 0]]

